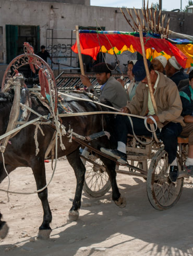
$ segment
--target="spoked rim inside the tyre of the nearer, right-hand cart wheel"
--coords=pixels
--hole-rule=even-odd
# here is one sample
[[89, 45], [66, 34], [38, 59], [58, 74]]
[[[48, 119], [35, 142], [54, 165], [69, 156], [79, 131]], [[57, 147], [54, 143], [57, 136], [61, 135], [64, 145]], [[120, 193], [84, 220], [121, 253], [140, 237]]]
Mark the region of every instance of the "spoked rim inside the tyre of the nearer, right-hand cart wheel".
[[183, 179], [178, 179], [173, 183], [169, 179], [169, 172], [167, 153], [164, 153], [155, 166], [151, 183], [153, 197], [161, 207], [171, 206], [180, 195], [182, 187]]

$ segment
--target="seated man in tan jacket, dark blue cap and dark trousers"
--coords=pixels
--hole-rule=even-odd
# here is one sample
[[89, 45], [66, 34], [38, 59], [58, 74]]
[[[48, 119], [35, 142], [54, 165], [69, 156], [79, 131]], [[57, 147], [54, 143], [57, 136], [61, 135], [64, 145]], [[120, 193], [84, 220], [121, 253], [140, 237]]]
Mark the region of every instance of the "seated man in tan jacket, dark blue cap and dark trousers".
[[[146, 69], [143, 60], [140, 59], [134, 65], [132, 72], [134, 73], [136, 81], [140, 81], [136, 95], [132, 100], [122, 108], [122, 112], [140, 115], [142, 117], [151, 117], [158, 123], [159, 129], [156, 131], [163, 141], [166, 152], [168, 153], [168, 163], [170, 164], [170, 179], [175, 182], [178, 177], [178, 167], [176, 160], [177, 153], [177, 136], [182, 132], [182, 125], [184, 125], [183, 117], [180, 116], [182, 112], [182, 102], [180, 101], [179, 92], [175, 83], [158, 71], [154, 71], [153, 65], [147, 60], [151, 86], [154, 93], [156, 106], [158, 108], [158, 115], [155, 115], [149, 88], [148, 79], [146, 76]], [[144, 120], [139, 118], [131, 118], [136, 135], [151, 136], [151, 132], [146, 129]], [[151, 118], [147, 118], [148, 124], [153, 124]], [[162, 129], [160, 131], [160, 129]], [[117, 161], [124, 164], [127, 159], [126, 143], [127, 134], [132, 134], [132, 127], [128, 117], [123, 115], [116, 116], [116, 134], [118, 147], [117, 149], [101, 148], [103, 153], [117, 158]]]

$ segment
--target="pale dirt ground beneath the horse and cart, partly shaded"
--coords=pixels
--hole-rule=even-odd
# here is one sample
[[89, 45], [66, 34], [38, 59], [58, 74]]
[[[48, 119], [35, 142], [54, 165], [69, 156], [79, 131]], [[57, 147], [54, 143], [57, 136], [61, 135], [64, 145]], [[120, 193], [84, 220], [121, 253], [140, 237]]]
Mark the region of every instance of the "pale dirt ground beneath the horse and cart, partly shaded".
[[[47, 181], [52, 174], [46, 164]], [[30, 168], [10, 174], [10, 190], [33, 191], [35, 181]], [[69, 223], [76, 179], [67, 160], [58, 161], [49, 186], [52, 233], [49, 240], [37, 240], [42, 223], [42, 206], [37, 194], [7, 195], [0, 192], [0, 211], [9, 226], [8, 236], [0, 241], [0, 255], [193, 255], [192, 183], [185, 180], [178, 203], [167, 211], [150, 205], [146, 181], [117, 174], [118, 187], [127, 205], [120, 209], [111, 200], [111, 191], [100, 198], [83, 193], [79, 220]], [[7, 189], [7, 178], [1, 188]]]

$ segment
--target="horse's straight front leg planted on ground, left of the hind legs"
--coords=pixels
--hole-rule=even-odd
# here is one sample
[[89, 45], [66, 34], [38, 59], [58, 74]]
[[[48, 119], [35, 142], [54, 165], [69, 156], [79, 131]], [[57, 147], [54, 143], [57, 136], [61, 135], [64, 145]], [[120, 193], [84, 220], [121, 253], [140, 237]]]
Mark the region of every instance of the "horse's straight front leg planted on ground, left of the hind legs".
[[[46, 185], [44, 158], [33, 158], [31, 160], [31, 168], [33, 171], [35, 182], [37, 184], [37, 189], [40, 190]], [[50, 237], [50, 233], [52, 231], [50, 227], [50, 223], [52, 221], [52, 213], [50, 210], [49, 201], [47, 200], [47, 188], [44, 189], [42, 192], [39, 192], [38, 196], [42, 202], [44, 213], [42, 225], [39, 227], [38, 238], [47, 239]]]

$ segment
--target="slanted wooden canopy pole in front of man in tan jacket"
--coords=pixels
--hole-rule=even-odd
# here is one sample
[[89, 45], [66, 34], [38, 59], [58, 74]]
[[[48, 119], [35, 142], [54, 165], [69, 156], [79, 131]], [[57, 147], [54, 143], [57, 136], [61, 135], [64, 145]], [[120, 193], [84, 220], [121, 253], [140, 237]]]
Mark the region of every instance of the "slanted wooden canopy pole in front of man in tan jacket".
[[156, 106], [156, 103], [155, 103], [155, 98], [154, 98], [154, 95], [153, 95], [153, 89], [152, 89], [152, 86], [151, 86], [151, 79], [150, 79], [148, 62], [147, 62], [147, 58], [146, 58], [146, 52], [144, 50], [143, 33], [142, 33], [142, 29], [141, 29], [140, 25], [139, 25], [139, 36], [140, 36], [140, 42], [141, 42], [141, 50], [142, 50], [142, 54], [143, 54], [143, 62], [144, 62], [144, 66], [146, 68], [146, 74], [147, 74], [147, 78], [148, 78], [148, 87], [149, 87], [149, 92], [150, 92], [150, 96], [151, 96], [151, 101], [152, 101], [152, 104], [153, 104], [155, 114], [158, 114], [158, 109], [157, 109], [157, 106]]

